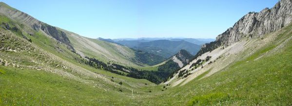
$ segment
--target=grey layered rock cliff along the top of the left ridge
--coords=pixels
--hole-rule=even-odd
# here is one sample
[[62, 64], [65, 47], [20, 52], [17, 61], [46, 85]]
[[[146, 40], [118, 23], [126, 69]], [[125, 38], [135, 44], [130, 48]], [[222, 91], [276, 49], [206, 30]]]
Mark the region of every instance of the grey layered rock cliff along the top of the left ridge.
[[8, 18], [11, 18], [21, 24], [24, 24], [28, 27], [31, 27], [35, 31], [42, 31], [47, 35], [54, 37], [56, 40], [68, 45], [72, 50], [74, 50], [73, 46], [71, 45], [66, 33], [58, 30], [58, 28], [48, 25], [39, 21], [36, 18], [29, 16], [26, 13], [23, 13], [17, 9], [10, 7], [9, 5], [5, 4], [4, 2], [0, 2], [0, 14], [4, 15]]

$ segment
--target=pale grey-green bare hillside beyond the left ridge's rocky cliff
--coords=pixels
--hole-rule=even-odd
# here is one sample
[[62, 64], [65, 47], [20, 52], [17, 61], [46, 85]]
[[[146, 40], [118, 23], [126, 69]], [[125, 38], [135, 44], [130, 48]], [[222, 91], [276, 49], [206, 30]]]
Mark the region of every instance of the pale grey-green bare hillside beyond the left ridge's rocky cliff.
[[105, 63], [111, 62], [129, 66], [144, 65], [135, 58], [135, 51], [128, 47], [83, 37], [71, 32], [67, 33], [76, 53], [83, 57], [94, 57]]

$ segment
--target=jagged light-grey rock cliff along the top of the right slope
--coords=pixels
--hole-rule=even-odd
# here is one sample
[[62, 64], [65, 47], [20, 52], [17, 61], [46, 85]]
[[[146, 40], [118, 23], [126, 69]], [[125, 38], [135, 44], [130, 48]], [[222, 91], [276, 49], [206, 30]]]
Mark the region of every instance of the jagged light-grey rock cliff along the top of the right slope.
[[250, 12], [240, 18], [233, 27], [218, 35], [214, 42], [205, 44], [196, 56], [212, 51], [219, 46], [229, 46], [242, 38], [258, 38], [277, 31], [292, 21], [292, 0], [281, 0], [271, 9]]

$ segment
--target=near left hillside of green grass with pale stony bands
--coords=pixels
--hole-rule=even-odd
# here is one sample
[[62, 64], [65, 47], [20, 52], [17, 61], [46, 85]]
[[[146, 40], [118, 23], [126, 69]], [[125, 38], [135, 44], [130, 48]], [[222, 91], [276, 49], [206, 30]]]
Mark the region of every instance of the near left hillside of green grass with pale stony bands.
[[0, 27], [0, 105], [127, 104], [135, 95], [160, 91], [160, 86], [148, 80], [87, 65], [52, 36], [5, 16], [0, 16], [0, 21], [4, 22]]

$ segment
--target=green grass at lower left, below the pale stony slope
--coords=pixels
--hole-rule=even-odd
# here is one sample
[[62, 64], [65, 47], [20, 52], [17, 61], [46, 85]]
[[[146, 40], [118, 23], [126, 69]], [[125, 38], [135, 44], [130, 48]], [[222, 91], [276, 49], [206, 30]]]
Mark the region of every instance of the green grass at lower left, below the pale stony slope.
[[0, 74], [2, 105], [109, 105], [131, 100], [124, 93], [94, 88], [45, 71], [0, 70], [7, 70]]

